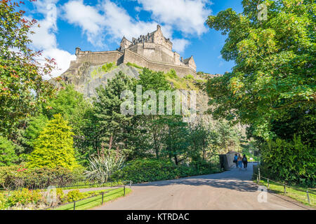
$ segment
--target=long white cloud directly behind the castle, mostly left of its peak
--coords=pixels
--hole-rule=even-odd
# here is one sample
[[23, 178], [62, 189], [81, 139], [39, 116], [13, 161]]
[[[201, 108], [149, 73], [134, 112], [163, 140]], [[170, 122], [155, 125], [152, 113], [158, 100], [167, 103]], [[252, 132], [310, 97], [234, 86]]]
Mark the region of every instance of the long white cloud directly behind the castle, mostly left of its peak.
[[[124, 8], [117, 6], [110, 0], [104, 0], [98, 6], [86, 6], [82, 0], [74, 0], [65, 3], [62, 7], [64, 18], [70, 24], [78, 25], [93, 45], [103, 46], [100, 36], [110, 37], [110, 41], [119, 43], [125, 36], [129, 40], [142, 34], [147, 34], [157, 29], [158, 22], [143, 22], [131, 18]], [[136, 8], [140, 10], [140, 8]], [[162, 25], [162, 32], [166, 38], [174, 43], [174, 50], [183, 52], [190, 43], [185, 39], [173, 39], [173, 27]]]

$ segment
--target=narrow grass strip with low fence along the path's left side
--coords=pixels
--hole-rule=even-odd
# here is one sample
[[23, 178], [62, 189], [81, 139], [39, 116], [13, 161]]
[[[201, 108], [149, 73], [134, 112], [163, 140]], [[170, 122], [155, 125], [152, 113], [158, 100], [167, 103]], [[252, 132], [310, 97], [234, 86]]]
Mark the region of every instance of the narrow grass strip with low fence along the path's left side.
[[[131, 189], [125, 188], [125, 193], [126, 195], [128, 195], [129, 193], [131, 193]], [[103, 202], [109, 202], [111, 200], [117, 199], [118, 197], [124, 197], [124, 188], [117, 188], [114, 190], [110, 190], [110, 192], [108, 193], [105, 193]], [[87, 200], [76, 202], [76, 210], [91, 209], [93, 207], [100, 206], [101, 202], [102, 202], [102, 195], [91, 197], [91, 198], [88, 198]], [[55, 210], [74, 210], [74, 203], [62, 205], [60, 207], [55, 208]]]

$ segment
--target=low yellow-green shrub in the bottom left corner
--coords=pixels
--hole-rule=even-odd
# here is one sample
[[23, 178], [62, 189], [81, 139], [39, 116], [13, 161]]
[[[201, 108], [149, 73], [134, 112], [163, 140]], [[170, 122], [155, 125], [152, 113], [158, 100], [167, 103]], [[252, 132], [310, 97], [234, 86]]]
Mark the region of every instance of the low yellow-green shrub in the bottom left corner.
[[8, 207], [17, 206], [18, 204], [37, 204], [41, 200], [41, 191], [40, 190], [28, 190], [23, 188], [22, 190], [15, 190], [8, 195], [6, 204]]

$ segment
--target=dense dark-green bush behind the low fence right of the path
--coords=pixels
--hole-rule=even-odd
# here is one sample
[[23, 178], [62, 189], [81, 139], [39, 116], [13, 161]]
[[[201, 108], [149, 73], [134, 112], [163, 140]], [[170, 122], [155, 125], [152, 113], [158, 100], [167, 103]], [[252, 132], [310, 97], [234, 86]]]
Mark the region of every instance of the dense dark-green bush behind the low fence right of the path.
[[315, 187], [316, 151], [301, 142], [276, 139], [262, 152], [262, 174], [276, 181]]

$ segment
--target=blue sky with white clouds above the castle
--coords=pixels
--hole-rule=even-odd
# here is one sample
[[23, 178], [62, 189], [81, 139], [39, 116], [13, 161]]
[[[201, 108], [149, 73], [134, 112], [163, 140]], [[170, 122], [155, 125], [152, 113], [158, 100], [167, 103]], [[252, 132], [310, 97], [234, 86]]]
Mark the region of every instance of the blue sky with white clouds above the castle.
[[173, 50], [184, 58], [193, 55], [198, 71], [225, 73], [233, 62], [220, 57], [225, 36], [209, 29], [205, 20], [220, 10], [232, 8], [242, 13], [241, 0], [37, 0], [26, 2], [26, 17], [37, 19], [32, 47], [45, 57], [56, 59], [65, 71], [75, 59], [74, 49], [115, 50], [123, 36], [131, 39], [162, 25], [171, 38]]

